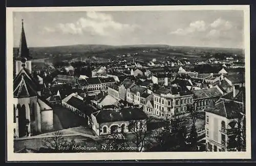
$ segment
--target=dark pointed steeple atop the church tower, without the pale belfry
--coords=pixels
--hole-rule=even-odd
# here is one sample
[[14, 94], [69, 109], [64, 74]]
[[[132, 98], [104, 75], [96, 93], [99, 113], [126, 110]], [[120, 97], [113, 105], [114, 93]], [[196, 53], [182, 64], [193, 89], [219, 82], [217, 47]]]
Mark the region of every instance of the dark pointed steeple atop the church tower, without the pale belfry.
[[23, 19], [22, 19], [22, 33], [20, 34], [19, 48], [18, 48], [18, 58], [27, 58], [29, 59], [29, 49], [27, 46]]

